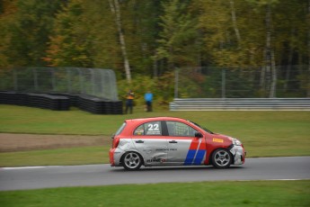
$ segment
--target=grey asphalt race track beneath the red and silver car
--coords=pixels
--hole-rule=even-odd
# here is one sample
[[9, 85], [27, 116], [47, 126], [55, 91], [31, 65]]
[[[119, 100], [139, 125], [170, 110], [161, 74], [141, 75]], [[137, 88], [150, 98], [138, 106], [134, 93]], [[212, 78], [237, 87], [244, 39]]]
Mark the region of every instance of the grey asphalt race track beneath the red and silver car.
[[219, 180], [310, 179], [310, 157], [247, 158], [243, 166], [143, 167], [129, 172], [110, 165], [0, 168], [0, 191], [108, 184], [154, 184]]

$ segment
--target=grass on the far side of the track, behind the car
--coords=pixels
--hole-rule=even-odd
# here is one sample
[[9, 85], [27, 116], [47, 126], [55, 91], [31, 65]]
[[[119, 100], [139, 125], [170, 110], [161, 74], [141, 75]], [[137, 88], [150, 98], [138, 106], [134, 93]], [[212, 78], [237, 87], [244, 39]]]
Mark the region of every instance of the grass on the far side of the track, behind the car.
[[[136, 107], [133, 114], [98, 115], [77, 109], [56, 112], [0, 105], [0, 132], [102, 135], [110, 142], [110, 135], [125, 119], [151, 116], [189, 119], [206, 126], [209, 130], [241, 139], [248, 157], [310, 155], [310, 112], [170, 112], [163, 109], [144, 112], [142, 107]], [[110, 144], [102, 148], [0, 153], [0, 166], [102, 163], [108, 161], [108, 148]], [[55, 156], [59, 153], [66, 156]], [[85, 154], [87, 158], [83, 158]], [[82, 156], [76, 158], [76, 155]]]

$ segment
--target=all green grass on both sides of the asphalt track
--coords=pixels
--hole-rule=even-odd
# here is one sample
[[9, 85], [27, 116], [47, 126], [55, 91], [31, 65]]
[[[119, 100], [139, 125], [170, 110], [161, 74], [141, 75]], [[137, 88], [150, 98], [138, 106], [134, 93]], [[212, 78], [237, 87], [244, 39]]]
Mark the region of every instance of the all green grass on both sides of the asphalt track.
[[[122, 121], [190, 119], [244, 142], [249, 157], [309, 156], [310, 112], [169, 112], [95, 115], [0, 105], [0, 132], [90, 134], [106, 139]], [[0, 153], [0, 166], [107, 163], [109, 146]], [[0, 206], [310, 206], [310, 181], [130, 184], [0, 192]]]

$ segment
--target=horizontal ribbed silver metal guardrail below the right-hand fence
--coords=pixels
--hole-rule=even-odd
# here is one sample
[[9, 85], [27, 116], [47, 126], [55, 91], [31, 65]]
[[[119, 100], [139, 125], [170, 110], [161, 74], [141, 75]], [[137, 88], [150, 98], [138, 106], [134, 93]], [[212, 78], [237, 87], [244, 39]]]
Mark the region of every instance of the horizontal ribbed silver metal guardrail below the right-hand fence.
[[310, 98], [175, 98], [170, 111], [310, 111]]

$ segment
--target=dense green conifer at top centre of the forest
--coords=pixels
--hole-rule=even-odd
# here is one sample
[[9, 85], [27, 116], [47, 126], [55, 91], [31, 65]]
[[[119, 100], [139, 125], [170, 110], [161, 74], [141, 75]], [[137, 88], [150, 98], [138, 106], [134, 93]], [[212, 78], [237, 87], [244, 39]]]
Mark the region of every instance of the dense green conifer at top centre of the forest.
[[166, 59], [168, 70], [174, 67], [197, 66], [199, 49], [193, 44], [198, 38], [196, 19], [190, 13], [189, 3], [180, 0], [163, 2], [160, 16], [161, 31], [157, 40], [156, 57]]

